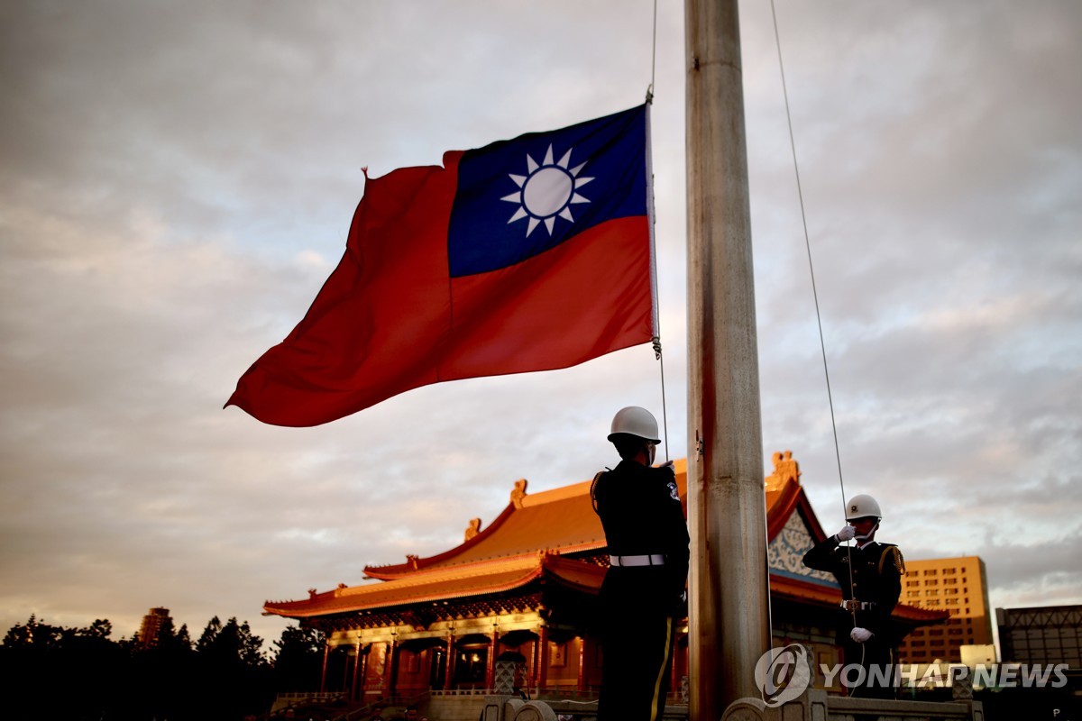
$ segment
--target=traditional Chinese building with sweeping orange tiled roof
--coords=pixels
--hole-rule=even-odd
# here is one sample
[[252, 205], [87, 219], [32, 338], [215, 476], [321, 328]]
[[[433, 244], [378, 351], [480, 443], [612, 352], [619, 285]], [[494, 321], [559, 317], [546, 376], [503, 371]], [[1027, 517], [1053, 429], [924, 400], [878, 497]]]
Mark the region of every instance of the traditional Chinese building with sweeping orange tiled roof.
[[[686, 505], [684, 460], [676, 481]], [[841, 591], [832, 576], [801, 563], [826, 534], [789, 452], [774, 454], [765, 493], [775, 642], [812, 646], [816, 664], [839, 663], [832, 624]], [[507, 507], [480, 525], [470, 521], [463, 542], [443, 553], [367, 566], [373, 583], [268, 601], [264, 611], [324, 630], [324, 687], [355, 699], [490, 689], [494, 660], [506, 652], [525, 659], [530, 690], [596, 691], [601, 651], [591, 618], [608, 555], [590, 481], [529, 495], [519, 480]], [[899, 605], [895, 616], [912, 629], [947, 614]], [[676, 692], [687, 672], [686, 622], [677, 649]]]

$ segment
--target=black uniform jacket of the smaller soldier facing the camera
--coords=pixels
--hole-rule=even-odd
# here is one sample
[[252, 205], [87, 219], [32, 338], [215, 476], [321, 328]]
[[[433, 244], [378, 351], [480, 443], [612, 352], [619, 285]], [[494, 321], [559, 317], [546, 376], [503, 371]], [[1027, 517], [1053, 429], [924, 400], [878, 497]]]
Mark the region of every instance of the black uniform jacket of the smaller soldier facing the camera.
[[873, 540], [862, 547], [846, 548], [840, 545], [837, 536], [831, 536], [804, 555], [804, 565], [834, 574], [843, 599], [871, 604], [857, 610], [855, 623], [852, 612], [839, 610], [840, 641], [847, 641], [849, 631], [857, 626], [867, 628], [884, 643], [898, 642], [890, 612], [901, 596], [906, 562], [897, 546]]

